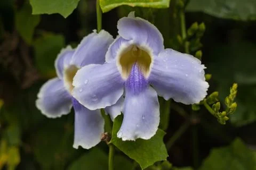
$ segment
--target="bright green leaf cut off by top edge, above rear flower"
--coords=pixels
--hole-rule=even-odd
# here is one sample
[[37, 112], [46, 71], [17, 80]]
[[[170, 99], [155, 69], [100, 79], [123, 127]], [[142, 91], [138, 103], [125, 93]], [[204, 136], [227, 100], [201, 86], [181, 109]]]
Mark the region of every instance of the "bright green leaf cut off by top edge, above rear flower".
[[59, 13], [65, 18], [77, 7], [79, 0], [30, 0], [33, 14]]

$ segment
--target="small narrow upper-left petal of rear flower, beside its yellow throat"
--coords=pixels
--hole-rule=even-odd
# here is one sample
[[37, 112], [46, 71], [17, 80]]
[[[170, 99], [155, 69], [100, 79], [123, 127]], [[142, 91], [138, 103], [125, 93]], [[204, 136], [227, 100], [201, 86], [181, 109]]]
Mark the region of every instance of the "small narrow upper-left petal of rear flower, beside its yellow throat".
[[55, 60], [55, 70], [60, 79], [63, 77], [63, 70], [65, 67], [69, 66], [72, 55], [74, 54], [75, 49], [72, 49], [71, 46], [61, 49]]

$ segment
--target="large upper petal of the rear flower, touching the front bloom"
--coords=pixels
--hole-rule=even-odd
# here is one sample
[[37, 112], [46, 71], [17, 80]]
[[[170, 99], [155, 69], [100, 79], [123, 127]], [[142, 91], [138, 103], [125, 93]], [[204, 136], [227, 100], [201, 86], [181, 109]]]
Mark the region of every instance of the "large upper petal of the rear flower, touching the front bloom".
[[105, 30], [96, 30], [84, 37], [71, 58], [71, 64], [82, 67], [88, 64], [103, 64], [105, 54], [113, 37]]

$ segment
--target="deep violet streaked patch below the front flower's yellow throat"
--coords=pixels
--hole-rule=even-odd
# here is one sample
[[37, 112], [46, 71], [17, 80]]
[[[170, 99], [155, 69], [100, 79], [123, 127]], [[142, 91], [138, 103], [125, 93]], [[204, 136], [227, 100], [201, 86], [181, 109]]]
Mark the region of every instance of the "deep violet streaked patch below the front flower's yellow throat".
[[148, 86], [148, 81], [143, 76], [137, 63], [133, 64], [129, 78], [125, 82], [125, 90], [133, 95], [140, 94]]

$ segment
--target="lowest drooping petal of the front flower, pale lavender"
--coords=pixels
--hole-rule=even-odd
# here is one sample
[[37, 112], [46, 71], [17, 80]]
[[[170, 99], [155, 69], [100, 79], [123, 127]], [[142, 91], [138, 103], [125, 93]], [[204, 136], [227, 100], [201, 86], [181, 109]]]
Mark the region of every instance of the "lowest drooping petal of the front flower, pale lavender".
[[138, 95], [126, 91], [124, 119], [118, 138], [135, 140], [150, 139], [159, 125], [159, 103], [156, 91], [150, 86]]

